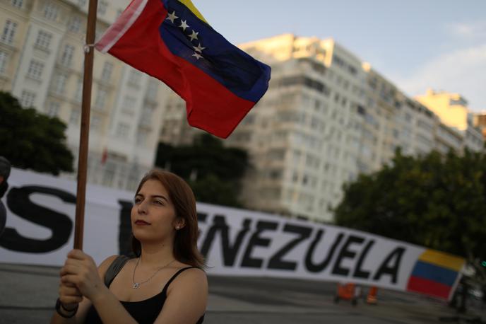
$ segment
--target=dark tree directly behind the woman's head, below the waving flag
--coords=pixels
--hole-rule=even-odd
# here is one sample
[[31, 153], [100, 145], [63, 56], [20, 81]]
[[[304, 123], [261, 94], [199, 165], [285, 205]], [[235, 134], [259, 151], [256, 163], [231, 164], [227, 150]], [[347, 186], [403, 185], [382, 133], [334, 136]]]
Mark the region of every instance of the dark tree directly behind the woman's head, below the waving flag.
[[247, 151], [227, 148], [220, 139], [202, 134], [189, 146], [160, 143], [155, 165], [184, 178], [198, 202], [242, 207], [237, 197], [249, 168]]

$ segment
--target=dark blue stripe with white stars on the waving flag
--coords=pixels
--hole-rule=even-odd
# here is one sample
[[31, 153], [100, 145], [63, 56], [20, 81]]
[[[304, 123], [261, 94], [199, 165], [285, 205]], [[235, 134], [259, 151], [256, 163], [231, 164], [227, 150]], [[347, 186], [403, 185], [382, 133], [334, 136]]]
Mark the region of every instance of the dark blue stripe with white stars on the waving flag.
[[[170, 52], [191, 62], [236, 96], [256, 103], [263, 94], [261, 89], [268, 87], [270, 66], [225, 40], [180, 1], [160, 1], [168, 12], [160, 25], [160, 36]], [[172, 13], [177, 18], [171, 17]]]

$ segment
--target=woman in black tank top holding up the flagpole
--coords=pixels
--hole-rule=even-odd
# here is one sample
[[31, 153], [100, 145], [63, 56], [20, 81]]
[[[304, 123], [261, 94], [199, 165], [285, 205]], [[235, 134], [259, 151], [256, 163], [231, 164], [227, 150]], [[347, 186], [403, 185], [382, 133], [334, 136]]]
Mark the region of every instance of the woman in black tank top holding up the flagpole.
[[113, 255], [96, 269], [81, 250], [68, 254], [51, 323], [202, 323], [208, 282], [189, 185], [150, 171], [136, 190], [131, 226], [136, 258]]

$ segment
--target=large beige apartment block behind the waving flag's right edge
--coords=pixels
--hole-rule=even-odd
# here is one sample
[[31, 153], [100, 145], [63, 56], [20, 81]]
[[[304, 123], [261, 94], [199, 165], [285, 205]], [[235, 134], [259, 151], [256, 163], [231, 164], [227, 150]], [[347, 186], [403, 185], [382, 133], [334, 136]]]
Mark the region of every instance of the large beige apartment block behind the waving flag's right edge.
[[[379, 170], [396, 149], [417, 155], [465, 145], [463, 132], [332, 39], [285, 34], [240, 47], [272, 67], [268, 92], [225, 140], [250, 153], [248, 207], [331, 221], [343, 184]], [[161, 141], [187, 144], [201, 132], [187, 127], [177, 96], [164, 115]]]

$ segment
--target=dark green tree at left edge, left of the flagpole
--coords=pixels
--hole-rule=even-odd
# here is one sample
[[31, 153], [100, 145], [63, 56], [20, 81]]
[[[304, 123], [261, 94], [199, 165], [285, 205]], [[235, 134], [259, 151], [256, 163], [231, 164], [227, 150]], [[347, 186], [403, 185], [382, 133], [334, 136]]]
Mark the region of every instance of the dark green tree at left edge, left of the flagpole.
[[10, 93], [0, 92], [0, 154], [16, 168], [59, 175], [73, 171], [66, 146], [66, 125], [57, 117], [22, 108]]

